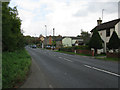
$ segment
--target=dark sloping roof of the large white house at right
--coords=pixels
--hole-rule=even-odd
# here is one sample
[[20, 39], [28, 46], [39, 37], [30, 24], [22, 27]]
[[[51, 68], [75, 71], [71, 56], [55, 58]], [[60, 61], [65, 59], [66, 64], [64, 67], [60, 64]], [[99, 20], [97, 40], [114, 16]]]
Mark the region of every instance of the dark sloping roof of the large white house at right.
[[109, 29], [109, 28], [114, 28], [115, 25], [120, 21], [120, 18], [119, 19], [115, 19], [115, 20], [112, 20], [112, 21], [109, 21], [109, 22], [106, 22], [106, 23], [102, 23], [98, 26], [96, 26], [95, 28], [93, 28], [90, 32], [93, 32], [93, 30], [98, 30], [98, 31], [101, 31], [101, 30], [105, 30], [105, 29]]

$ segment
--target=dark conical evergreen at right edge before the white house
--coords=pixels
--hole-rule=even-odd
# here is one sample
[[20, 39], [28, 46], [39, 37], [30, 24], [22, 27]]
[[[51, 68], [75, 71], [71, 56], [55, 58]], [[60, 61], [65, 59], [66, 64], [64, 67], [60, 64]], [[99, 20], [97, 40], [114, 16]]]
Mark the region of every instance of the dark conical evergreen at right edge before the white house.
[[107, 47], [109, 50], [113, 49], [113, 51], [115, 51], [115, 49], [118, 49], [120, 47], [120, 39], [118, 38], [118, 35], [115, 31], [113, 31], [113, 34], [109, 40]]

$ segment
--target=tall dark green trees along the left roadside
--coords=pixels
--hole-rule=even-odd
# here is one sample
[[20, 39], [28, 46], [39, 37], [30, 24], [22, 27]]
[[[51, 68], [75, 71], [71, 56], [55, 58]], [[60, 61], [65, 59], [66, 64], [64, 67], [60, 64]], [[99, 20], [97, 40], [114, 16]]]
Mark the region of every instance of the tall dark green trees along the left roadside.
[[9, 2], [2, 3], [2, 50], [15, 51], [24, 47], [21, 33], [21, 19], [17, 8], [9, 7]]

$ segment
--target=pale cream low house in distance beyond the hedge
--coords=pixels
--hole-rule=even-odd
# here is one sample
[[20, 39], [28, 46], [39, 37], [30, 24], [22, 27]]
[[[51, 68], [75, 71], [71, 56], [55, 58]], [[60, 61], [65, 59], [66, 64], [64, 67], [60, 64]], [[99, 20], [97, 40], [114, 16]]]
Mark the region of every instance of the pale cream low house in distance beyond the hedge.
[[63, 47], [78, 46], [83, 44], [83, 39], [81, 37], [63, 37], [62, 39]]

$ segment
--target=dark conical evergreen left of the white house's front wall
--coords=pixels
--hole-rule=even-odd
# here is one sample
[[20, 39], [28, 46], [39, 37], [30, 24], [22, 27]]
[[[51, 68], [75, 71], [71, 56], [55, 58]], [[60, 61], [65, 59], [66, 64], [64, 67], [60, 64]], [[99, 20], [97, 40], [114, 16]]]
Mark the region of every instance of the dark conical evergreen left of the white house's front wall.
[[97, 30], [93, 30], [93, 35], [90, 38], [89, 47], [95, 49], [95, 54], [97, 53], [97, 49], [102, 48], [102, 39]]

